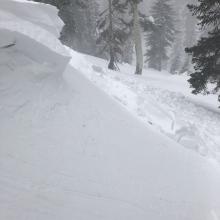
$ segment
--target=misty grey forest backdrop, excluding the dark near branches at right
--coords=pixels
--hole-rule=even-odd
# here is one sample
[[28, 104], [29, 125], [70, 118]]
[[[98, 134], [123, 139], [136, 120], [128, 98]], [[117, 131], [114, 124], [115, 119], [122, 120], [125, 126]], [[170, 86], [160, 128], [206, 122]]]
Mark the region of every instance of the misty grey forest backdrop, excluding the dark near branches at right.
[[[190, 64], [183, 62], [180, 56], [184, 47], [192, 42], [188, 36], [195, 33], [187, 26], [187, 16], [181, 26], [189, 34], [180, 32], [177, 28], [179, 12], [170, 0], [155, 0], [148, 15], [139, 10], [143, 0], [35, 1], [59, 9], [59, 16], [65, 23], [60, 35], [62, 43], [109, 60], [109, 69], [117, 70], [118, 63], [133, 61], [136, 61], [136, 74], [142, 73], [144, 65], [172, 73], [189, 69]], [[182, 45], [182, 54], [175, 44]]]

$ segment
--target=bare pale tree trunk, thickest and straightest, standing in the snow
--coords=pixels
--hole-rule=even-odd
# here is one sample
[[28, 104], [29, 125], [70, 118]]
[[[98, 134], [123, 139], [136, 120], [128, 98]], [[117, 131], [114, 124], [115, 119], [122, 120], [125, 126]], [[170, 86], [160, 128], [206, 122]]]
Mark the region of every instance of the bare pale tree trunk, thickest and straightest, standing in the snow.
[[143, 52], [142, 52], [142, 40], [141, 40], [141, 30], [139, 23], [138, 14], [138, 3], [133, 3], [133, 13], [134, 13], [134, 43], [136, 52], [136, 71], [135, 74], [141, 75], [143, 69]]

